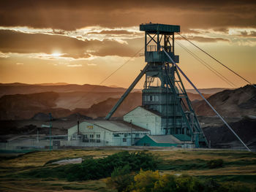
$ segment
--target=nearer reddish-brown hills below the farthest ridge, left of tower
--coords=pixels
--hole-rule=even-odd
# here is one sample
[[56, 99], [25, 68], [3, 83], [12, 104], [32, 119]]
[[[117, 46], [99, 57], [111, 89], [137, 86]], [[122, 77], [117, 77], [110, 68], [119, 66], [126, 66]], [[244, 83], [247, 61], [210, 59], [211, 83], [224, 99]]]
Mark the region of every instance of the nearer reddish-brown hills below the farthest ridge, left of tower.
[[[48, 112], [52, 112], [55, 118], [61, 118], [72, 114], [72, 112], [80, 111], [89, 117], [102, 117], [116, 104], [122, 94], [123, 92], [43, 92], [5, 95], [0, 98], [0, 120], [20, 120], [33, 117], [45, 119], [42, 113], [48, 114]], [[200, 99], [197, 94], [188, 94], [191, 100]], [[121, 116], [141, 105], [141, 92], [130, 93], [127, 99], [124, 100], [124, 106], [116, 112], [116, 116]]]

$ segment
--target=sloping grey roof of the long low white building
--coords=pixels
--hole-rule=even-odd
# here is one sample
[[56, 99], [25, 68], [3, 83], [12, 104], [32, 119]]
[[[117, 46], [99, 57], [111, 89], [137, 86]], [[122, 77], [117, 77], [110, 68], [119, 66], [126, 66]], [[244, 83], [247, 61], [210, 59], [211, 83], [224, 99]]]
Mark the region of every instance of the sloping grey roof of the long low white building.
[[94, 124], [95, 126], [100, 126], [113, 132], [148, 131], [146, 128], [132, 125], [124, 120], [85, 120], [85, 122]]

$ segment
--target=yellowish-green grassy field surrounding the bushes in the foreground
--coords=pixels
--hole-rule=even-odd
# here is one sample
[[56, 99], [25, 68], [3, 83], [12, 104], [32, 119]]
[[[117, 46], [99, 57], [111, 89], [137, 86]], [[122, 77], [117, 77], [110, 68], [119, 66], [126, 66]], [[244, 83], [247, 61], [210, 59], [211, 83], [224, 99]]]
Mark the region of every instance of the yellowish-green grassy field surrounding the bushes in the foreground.
[[[121, 150], [53, 150], [39, 151], [1, 158], [0, 191], [110, 191], [105, 179], [68, 182], [54, 175], [45, 178], [20, 177], [26, 172], [50, 170], [60, 165], [51, 164], [65, 158], [103, 158]], [[132, 150], [131, 150], [132, 151]], [[230, 150], [146, 150], [159, 158], [161, 174], [190, 174], [214, 178], [219, 182], [240, 181], [256, 187], [256, 153]], [[210, 169], [208, 162], [222, 159], [223, 166]]]

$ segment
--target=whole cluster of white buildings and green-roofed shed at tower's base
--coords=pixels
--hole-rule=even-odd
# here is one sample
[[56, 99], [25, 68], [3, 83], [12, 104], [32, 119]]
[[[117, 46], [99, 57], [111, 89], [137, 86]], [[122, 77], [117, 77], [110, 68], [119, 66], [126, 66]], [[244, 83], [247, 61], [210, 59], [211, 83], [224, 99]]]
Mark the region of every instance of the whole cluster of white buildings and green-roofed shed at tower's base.
[[[123, 120], [84, 120], [68, 129], [69, 145], [73, 146], [131, 146], [147, 145], [162, 147], [192, 146], [189, 137], [168, 137], [160, 126], [161, 116], [153, 110], [136, 107], [123, 116]], [[166, 137], [165, 143], [152, 136]], [[150, 139], [153, 138], [152, 142]], [[152, 138], [151, 138], [152, 137]], [[170, 139], [172, 137], [172, 139]], [[142, 139], [143, 138], [143, 139]], [[172, 142], [172, 141], [176, 142]]]

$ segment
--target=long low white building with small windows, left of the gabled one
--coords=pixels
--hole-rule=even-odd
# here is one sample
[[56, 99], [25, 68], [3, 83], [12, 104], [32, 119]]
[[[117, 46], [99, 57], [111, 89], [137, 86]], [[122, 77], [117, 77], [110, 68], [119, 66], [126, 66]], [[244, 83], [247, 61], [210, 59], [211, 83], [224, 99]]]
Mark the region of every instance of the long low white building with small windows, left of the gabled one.
[[74, 146], [131, 146], [149, 132], [123, 120], [85, 120], [68, 129], [68, 140]]

